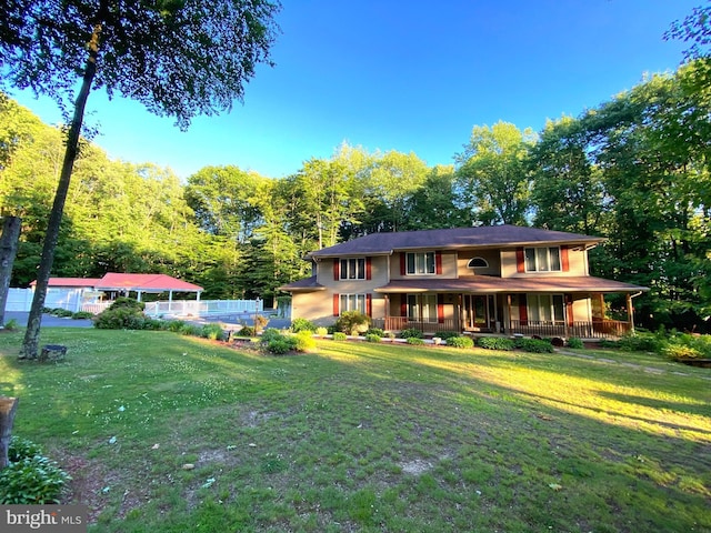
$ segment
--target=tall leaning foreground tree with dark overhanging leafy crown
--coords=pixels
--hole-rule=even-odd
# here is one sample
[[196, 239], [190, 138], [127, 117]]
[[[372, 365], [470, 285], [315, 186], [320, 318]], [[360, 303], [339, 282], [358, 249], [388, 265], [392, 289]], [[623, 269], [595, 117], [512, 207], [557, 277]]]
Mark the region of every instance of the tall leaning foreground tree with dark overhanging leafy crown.
[[0, 32], [0, 68], [11, 84], [67, 105], [81, 72], [21, 356], [38, 354], [41, 310], [92, 86], [136, 99], [187, 128], [196, 114], [213, 114], [243, 98], [256, 66], [269, 62], [279, 7], [270, 0], [2, 4], [9, 24]]

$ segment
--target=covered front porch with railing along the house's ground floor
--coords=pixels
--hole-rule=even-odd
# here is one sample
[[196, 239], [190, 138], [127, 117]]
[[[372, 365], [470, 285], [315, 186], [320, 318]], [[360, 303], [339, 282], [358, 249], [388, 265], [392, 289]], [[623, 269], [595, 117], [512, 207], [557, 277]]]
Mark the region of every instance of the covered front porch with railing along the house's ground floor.
[[[632, 300], [642, 288], [590, 276], [531, 280], [479, 275], [468, 280], [398, 280], [377, 291], [383, 294], [385, 313], [373, 320], [373, 325], [385, 331], [608, 339], [634, 330]], [[625, 293], [627, 320], [604, 316], [603, 295], [609, 292]]]

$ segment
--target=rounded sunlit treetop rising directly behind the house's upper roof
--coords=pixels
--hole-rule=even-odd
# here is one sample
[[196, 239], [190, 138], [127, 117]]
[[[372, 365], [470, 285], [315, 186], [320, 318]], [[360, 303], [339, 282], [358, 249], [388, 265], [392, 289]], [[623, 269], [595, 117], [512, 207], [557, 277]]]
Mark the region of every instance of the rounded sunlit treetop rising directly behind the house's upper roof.
[[509, 122], [477, 125], [455, 155], [460, 205], [482, 224], [528, 224], [530, 182], [524, 158], [535, 135]]

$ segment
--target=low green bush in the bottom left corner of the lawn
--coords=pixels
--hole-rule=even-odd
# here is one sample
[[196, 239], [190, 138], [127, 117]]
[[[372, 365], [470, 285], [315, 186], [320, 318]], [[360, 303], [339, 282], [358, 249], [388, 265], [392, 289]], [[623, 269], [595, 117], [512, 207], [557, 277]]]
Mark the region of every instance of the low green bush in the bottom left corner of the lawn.
[[43, 456], [38, 445], [13, 436], [8, 457], [10, 463], [0, 470], [0, 504], [60, 503], [60, 493], [71, 477], [56, 462]]

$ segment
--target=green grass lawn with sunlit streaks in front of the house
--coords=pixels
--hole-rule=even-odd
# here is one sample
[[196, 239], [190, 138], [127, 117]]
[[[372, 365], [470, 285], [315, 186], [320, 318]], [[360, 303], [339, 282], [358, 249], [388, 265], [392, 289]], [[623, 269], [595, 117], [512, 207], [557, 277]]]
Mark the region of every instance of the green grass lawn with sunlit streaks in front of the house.
[[68, 359], [38, 365], [21, 338], [0, 335], [0, 394], [90, 532], [711, 531], [708, 369], [84, 329], [46, 329]]

